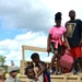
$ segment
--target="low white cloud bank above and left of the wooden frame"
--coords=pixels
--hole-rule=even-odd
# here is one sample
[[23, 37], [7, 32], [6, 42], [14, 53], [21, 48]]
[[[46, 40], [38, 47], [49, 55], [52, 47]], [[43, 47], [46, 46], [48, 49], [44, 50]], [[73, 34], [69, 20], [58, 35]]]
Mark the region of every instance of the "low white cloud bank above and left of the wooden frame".
[[10, 65], [11, 60], [13, 60], [16, 65], [20, 65], [22, 59], [22, 45], [46, 48], [47, 36], [43, 32], [28, 32], [26, 34], [16, 35], [14, 39], [1, 40], [0, 54], [7, 57], [5, 63]]

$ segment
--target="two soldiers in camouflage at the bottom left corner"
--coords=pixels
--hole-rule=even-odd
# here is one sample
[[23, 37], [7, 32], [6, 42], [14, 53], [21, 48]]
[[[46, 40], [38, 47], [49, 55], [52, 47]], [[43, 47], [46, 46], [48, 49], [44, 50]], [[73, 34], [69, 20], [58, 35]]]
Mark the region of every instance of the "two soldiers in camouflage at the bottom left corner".
[[17, 75], [19, 67], [16, 66], [9, 66], [8, 72], [9, 77], [5, 77], [5, 70], [0, 67], [0, 82], [21, 82]]

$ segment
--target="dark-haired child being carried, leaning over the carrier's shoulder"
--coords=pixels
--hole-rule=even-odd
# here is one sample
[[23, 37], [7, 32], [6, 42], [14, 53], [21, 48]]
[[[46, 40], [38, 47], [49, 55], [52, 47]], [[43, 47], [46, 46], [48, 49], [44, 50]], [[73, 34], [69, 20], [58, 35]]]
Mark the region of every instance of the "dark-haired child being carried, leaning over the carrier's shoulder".
[[34, 52], [31, 58], [38, 67], [36, 78], [38, 78], [40, 82], [50, 82], [50, 74], [47, 72], [46, 63], [39, 59], [39, 55]]

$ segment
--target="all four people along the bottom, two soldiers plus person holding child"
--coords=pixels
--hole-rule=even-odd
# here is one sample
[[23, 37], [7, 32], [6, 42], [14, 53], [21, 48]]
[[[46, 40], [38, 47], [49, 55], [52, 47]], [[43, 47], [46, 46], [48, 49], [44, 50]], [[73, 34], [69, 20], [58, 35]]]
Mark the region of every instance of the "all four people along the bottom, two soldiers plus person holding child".
[[[31, 56], [32, 65], [25, 68], [25, 75], [27, 77], [26, 82], [50, 82], [50, 73], [47, 70], [46, 63], [40, 60], [37, 52]], [[17, 75], [19, 67], [9, 66], [9, 77], [5, 79], [5, 70], [0, 68], [0, 82], [21, 82]]]

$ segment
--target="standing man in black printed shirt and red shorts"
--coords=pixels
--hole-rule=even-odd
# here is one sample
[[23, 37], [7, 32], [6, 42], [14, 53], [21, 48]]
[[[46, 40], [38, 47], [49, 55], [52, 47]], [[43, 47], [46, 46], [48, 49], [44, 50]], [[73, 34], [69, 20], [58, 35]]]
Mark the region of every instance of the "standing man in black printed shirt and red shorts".
[[[66, 23], [66, 37], [68, 39], [69, 46], [68, 49], [72, 58], [75, 60], [78, 59], [81, 69], [78, 72], [82, 72], [82, 54], [81, 54], [81, 46], [82, 46], [82, 22], [79, 19], [75, 19], [75, 11], [69, 11], [70, 21]], [[71, 72], [77, 73], [75, 62], [73, 63], [73, 68]]]

